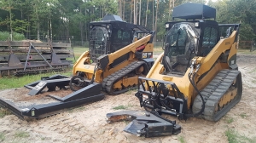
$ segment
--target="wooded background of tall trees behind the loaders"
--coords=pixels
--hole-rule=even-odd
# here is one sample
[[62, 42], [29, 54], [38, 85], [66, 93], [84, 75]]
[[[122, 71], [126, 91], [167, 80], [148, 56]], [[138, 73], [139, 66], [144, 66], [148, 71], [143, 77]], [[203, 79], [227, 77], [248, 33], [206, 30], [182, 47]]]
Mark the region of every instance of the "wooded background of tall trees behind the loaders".
[[0, 40], [49, 38], [68, 43], [71, 39], [86, 46], [90, 21], [118, 14], [127, 22], [157, 31], [155, 40], [160, 42], [173, 7], [188, 2], [217, 9], [219, 23], [241, 23], [241, 41], [256, 39], [255, 0], [0, 0]]

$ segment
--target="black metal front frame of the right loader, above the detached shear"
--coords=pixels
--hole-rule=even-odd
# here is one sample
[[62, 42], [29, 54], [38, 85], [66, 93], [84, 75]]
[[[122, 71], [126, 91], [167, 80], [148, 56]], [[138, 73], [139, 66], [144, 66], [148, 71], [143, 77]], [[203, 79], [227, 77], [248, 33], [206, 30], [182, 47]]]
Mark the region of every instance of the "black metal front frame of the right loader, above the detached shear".
[[[151, 82], [153, 86], [150, 87], [149, 82]], [[170, 114], [179, 119], [186, 119], [184, 113], [188, 110], [187, 100], [175, 83], [147, 77], [138, 77], [137, 87], [138, 92], [135, 95], [140, 100], [141, 107], [145, 109], [150, 108], [153, 112]], [[143, 94], [148, 96], [147, 103], [143, 100]], [[167, 102], [172, 103], [172, 106], [168, 106]]]

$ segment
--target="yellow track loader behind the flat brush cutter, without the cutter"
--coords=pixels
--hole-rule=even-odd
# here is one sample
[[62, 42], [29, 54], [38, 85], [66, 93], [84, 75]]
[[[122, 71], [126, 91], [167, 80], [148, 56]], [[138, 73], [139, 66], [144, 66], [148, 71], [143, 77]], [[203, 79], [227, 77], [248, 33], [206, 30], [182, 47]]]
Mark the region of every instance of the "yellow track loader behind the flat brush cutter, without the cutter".
[[121, 94], [135, 89], [137, 77], [145, 77], [153, 65], [154, 31], [121, 21], [116, 15], [105, 17], [111, 18], [116, 20], [90, 23], [90, 50], [73, 66], [70, 87], [74, 91], [101, 83], [108, 94]]

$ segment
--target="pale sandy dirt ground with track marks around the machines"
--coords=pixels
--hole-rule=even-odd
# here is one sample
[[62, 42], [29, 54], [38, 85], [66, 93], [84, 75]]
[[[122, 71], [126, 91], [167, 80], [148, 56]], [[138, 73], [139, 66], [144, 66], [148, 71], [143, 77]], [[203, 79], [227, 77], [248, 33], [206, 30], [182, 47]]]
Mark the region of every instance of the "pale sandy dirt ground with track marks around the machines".
[[[242, 73], [243, 94], [240, 103], [218, 122], [199, 118], [187, 121], [176, 120], [182, 126], [182, 133], [165, 137], [144, 138], [123, 131], [127, 122], [108, 124], [106, 114], [117, 112], [115, 106], [125, 106], [127, 110], [143, 110], [139, 106], [135, 91], [116, 96], [107, 95], [104, 100], [62, 112], [52, 117], [36, 121], [23, 121], [15, 115], [0, 118], [0, 142], [228, 142], [224, 132], [234, 129], [239, 134], [251, 138], [256, 129], [256, 56], [239, 54], [237, 63]], [[15, 90], [15, 89], [12, 89]], [[17, 89], [19, 90], [19, 89]], [[0, 92], [9, 93], [10, 90]], [[1, 136], [2, 135], [2, 136]], [[179, 139], [179, 140], [178, 140]]]

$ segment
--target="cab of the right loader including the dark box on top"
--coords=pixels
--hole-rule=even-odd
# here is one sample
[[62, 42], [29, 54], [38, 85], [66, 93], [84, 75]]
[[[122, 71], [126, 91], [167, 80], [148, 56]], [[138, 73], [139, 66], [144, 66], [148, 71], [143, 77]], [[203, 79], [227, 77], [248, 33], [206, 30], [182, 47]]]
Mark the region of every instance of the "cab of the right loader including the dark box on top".
[[[166, 22], [162, 64], [165, 74], [183, 77], [194, 56], [206, 56], [219, 41], [216, 9], [198, 3], [185, 3], [173, 9]], [[207, 20], [214, 19], [214, 20]]]

